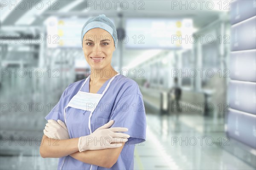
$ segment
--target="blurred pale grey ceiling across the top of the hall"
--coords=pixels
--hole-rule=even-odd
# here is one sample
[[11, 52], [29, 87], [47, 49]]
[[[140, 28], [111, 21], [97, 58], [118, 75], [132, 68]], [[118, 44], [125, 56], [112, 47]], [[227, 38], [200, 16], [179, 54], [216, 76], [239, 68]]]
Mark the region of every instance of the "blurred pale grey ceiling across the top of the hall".
[[[35, 3], [32, 3], [31, 5], [32, 8], [35, 6], [37, 1], [41, 1], [41, 0], [34, 0]], [[139, 8], [140, 6], [141, 8], [144, 8], [140, 10], [139, 9], [134, 10], [134, 5], [132, 4], [133, 1], [129, 2], [129, 8], [126, 10], [122, 9], [125, 7], [120, 8], [119, 6], [121, 5], [119, 4], [116, 5], [117, 6], [116, 9], [114, 7], [114, 4], [112, 4], [112, 8], [110, 8], [109, 10], [106, 9], [107, 4], [105, 4], [105, 9], [102, 8], [102, 10], [100, 10], [100, 7], [97, 7], [97, 6], [95, 6], [96, 9], [94, 9], [94, 7], [88, 6], [90, 2], [94, 2], [94, 1], [86, 1], [86, 0], [56, 1], [55, 0], [55, 1], [52, 1], [52, 5], [50, 9], [49, 9], [49, 4], [44, 3], [44, 7], [46, 7], [45, 9], [35, 10], [35, 12], [32, 12], [33, 10], [29, 9], [29, 3], [26, 2], [25, 4], [27, 7], [22, 9], [23, 3], [21, 3], [20, 1], [17, 3], [17, 5], [20, 7], [17, 6], [17, 9], [12, 10], [9, 13], [9, 15], [5, 18], [4, 21], [1, 20], [1, 25], [2, 26], [14, 25], [18, 20], [20, 20], [21, 17], [23, 17], [27, 13], [31, 13], [27, 17], [35, 17], [35, 20], [32, 23], [29, 23], [29, 25], [32, 25], [32, 26], [41, 25], [44, 22], [44, 20], [46, 20], [47, 17], [51, 15], [67, 16], [67, 17], [72, 17], [72, 16], [90, 17], [90, 16], [104, 13], [106, 14], [106, 16], [113, 17], [113, 18], [118, 18], [119, 14], [122, 14], [124, 18], [128, 18], [128, 17], [135, 17], [135, 18], [136, 17], [144, 17], [144, 18], [145, 17], [149, 17], [149, 18], [190, 17], [194, 21], [194, 26], [196, 28], [201, 28], [209, 24], [213, 20], [216, 20], [218, 18], [218, 15], [220, 14], [219, 10], [214, 10], [214, 9], [209, 10], [207, 8], [200, 9], [199, 6], [195, 10], [192, 10], [192, 8], [186, 9], [185, 6], [174, 6], [173, 4], [174, 2], [172, 2], [172, 0], [144, 0], [143, 1], [144, 4], [143, 3], [137, 4], [136, 8]], [[104, 6], [104, 3], [102, 5]], [[40, 6], [40, 5], [37, 5], [37, 6]], [[71, 7], [71, 8], [68, 8], [68, 7]], [[202, 7], [204, 7], [204, 5], [202, 5]], [[6, 11], [10, 11], [8, 8], [9, 6], [3, 6], [3, 10], [1, 10], [1, 15], [5, 14]], [[14, 8], [14, 7], [12, 6], [11, 8]], [[40, 14], [38, 14], [38, 11]], [[27, 23], [23, 23], [23, 24], [27, 25]], [[23, 24], [20, 23], [19, 25], [23, 25]]]

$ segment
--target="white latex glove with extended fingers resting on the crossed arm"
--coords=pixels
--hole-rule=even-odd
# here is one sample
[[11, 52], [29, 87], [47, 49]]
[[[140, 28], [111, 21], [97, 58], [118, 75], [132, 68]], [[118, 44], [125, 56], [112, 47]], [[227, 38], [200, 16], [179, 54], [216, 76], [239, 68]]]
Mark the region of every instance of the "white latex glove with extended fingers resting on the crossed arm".
[[121, 142], [127, 142], [127, 138], [130, 136], [128, 134], [118, 132], [126, 132], [128, 129], [125, 127], [111, 127], [113, 123], [114, 121], [111, 120], [105, 125], [96, 129], [92, 134], [81, 136], [78, 141], [79, 152], [85, 150], [100, 150], [121, 147]]

